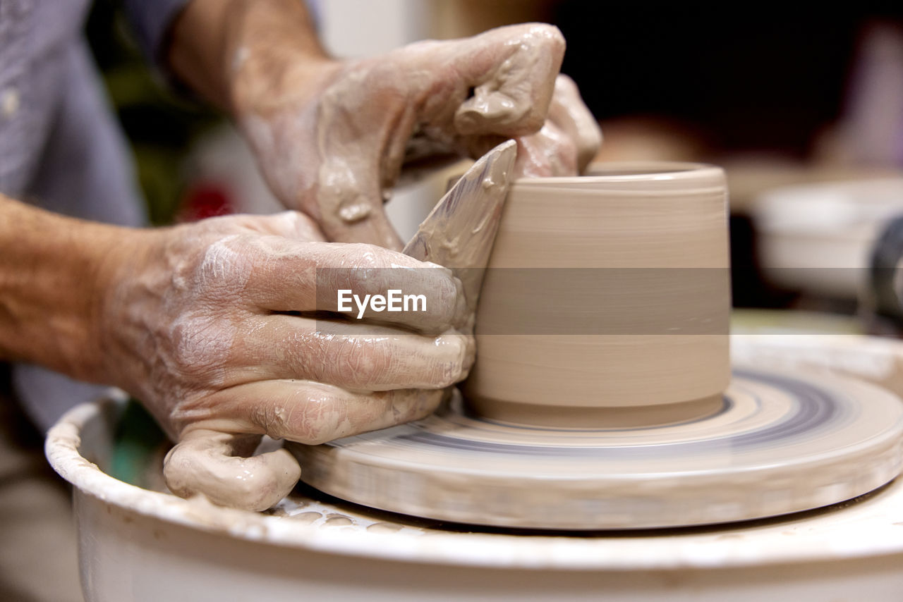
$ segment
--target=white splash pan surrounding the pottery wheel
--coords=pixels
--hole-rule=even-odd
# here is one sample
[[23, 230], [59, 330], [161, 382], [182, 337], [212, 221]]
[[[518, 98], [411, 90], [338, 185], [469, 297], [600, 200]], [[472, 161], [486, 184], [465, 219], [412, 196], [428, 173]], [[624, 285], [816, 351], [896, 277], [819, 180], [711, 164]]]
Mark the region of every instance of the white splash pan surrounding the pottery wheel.
[[[733, 354], [741, 363], [903, 384], [903, 345], [887, 340], [740, 336]], [[275, 516], [128, 485], [104, 472], [122, 409], [112, 401], [81, 405], [47, 440], [51, 464], [74, 485], [91, 601], [796, 602], [899, 600], [903, 592], [903, 479], [842, 508], [730, 528], [462, 533], [387, 523], [302, 497]]]

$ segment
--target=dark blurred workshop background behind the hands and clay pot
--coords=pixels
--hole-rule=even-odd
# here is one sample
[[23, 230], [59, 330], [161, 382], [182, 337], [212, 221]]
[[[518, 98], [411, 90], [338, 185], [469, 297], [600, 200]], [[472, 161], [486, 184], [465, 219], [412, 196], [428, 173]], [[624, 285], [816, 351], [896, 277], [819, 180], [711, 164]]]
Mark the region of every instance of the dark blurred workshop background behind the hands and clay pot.
[[[600, 121], [600, 161], [713, 162], [731, 193], [739, 328], [898, 333], [903, 255], [903, 5], [686, 5], [577, 0], [321, 0], [341, 57], [543, 21]], [[779, 10], [777, 10], [779, 8]], [[88, 37], [156, 224], [279, 208], [239, 136], [149, 69], [114, 0]], [[443, 180], [396, 190], [412, 233]], [[903, 223], [903, 222], [901, 222]], [[787, 312], [769, 310], [794, 309]]]

